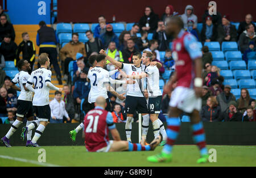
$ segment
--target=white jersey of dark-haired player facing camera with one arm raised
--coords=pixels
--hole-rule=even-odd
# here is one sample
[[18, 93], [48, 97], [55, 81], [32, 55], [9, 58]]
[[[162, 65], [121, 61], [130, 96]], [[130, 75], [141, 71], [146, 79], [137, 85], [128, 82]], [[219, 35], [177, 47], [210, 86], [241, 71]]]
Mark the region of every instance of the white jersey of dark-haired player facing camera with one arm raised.
[[[122, 70], [125, 71], [127, 75], [138, 75], [143, 72], [144, 65], [141, 67], [135, 67], [133, 64], [130, 63], [123, 63]], [[128, 79], [127, 79], [128, 80]], [[144, 97], [144, 84], [143, 80], [135, 79], [134, 84], [127, 84], [127, 96], [137, 96], [137, 97]]]

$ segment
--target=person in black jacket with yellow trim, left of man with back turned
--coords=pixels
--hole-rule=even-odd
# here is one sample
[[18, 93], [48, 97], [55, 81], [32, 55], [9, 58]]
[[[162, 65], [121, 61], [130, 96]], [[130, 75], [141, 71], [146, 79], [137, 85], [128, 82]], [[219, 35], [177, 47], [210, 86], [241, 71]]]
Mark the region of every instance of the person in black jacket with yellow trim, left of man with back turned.
[[35, 63], [35, 45], [32, 41], [30, 41], [30, 36], [27, 32], [22, 33], [23, 41], [19, 44], [17, 52], [16, 52], [16, 60], [14, 61], [15, 65], [19, 62], [19, 54], [22, 52], [22, 59], [27, 60], [30, 63], [31, 69], [28, 73], [31, 73], [33, 70], [33, 66]]

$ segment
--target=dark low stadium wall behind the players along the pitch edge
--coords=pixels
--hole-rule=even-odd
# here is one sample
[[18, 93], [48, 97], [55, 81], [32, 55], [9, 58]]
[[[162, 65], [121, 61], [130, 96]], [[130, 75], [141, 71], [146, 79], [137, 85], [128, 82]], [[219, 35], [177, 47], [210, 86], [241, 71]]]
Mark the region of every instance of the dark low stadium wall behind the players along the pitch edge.
[[[164, 123], [166, 125], [166, 123]], [[69, 131], [76, 128], [79, 124], [48, 124], [42, 137], [39, 139], [40, 146], [72, 146], [84, 145], [82, 132], [77, 134], [76, 142], [73, 143], [69, 138]], [[122, 140], [126, 140], [125, 123], [116, 124]], [[12, 146], [24, 146], [26, 142], [20, 141], [21, 126], [10, 139]], [[10, 125], [0, 125], [0, 136], [3, 137]], [[256, 145], [256, 122], [205, 122], [205, 134], [208, 145]], [[34, 133], [33, 133], [34, 135]], [[110, 137], [110, 139], [112, 139]], [[138, 142], [138, 123], [133, 123], [131, 134], [133, 142]], [[147, 135], [147, 142], [154, 139], [152, 124]], [[183, 122], [179, 137], [175, 144], [193, 145], [191, 125]], [[1, 144], [1, 146], [3, 146]]]

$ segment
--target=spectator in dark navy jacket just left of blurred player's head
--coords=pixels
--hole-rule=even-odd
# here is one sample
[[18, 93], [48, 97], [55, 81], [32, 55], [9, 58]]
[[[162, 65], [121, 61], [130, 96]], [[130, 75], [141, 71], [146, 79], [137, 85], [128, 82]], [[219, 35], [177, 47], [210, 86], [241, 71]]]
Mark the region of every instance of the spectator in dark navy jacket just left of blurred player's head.
[[162, 20], [158, 21], [158, 29], [154, 32], [153, 39], [158, 40], [158, 50], [164, 51], [169, 49], [170, 37], [166, 34], [166, 26]]

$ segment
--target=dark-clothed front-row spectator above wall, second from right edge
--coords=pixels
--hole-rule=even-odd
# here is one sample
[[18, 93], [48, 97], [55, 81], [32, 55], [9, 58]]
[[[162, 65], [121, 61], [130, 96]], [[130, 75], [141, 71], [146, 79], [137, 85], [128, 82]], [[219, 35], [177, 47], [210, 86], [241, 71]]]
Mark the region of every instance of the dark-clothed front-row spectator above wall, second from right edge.
[[221, 118], [223, 118], [224, 121], [241, 122], [243, 115], [240, 111], [238, 111], [236, 101], [231, 101], [229, 103], [228, 108], [229, 108], [228, 113], [224, 112]]

